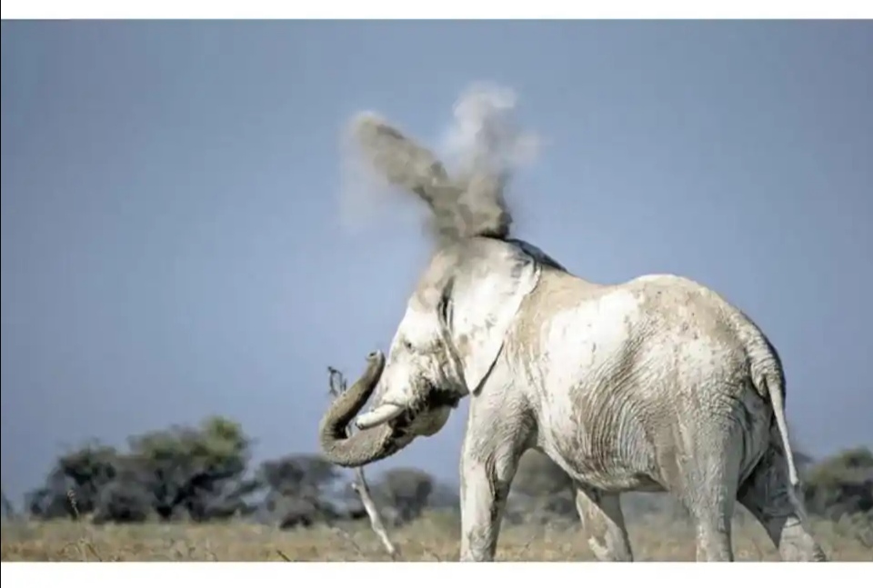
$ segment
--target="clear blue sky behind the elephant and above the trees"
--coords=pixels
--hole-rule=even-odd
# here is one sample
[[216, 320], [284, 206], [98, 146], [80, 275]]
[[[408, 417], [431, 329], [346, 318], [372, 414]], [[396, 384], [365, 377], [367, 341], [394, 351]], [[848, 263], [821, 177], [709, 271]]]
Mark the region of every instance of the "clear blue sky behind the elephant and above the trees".
[[[208, 414], [316, 451], [326, 365], [386, 348], [426, 254], [406, 217], [344, 229], [340, 127], [436, 142], [479, 80], [547, 141], [517, 236], [716, 288], [778, 346], [800, 443], [873, 443], [869, 55], [864, 22], [3, 22], [6, 492]], [[456, 479], [466, 413], [381, 467]]]

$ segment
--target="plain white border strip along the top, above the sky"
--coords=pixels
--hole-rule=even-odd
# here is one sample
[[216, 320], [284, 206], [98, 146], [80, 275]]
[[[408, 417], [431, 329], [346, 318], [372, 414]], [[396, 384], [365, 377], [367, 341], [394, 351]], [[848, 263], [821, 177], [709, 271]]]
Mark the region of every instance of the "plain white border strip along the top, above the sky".
[[4, 0], [2, 17], [69, 18], [873, 18], [869, 0]]

